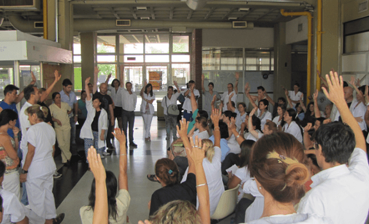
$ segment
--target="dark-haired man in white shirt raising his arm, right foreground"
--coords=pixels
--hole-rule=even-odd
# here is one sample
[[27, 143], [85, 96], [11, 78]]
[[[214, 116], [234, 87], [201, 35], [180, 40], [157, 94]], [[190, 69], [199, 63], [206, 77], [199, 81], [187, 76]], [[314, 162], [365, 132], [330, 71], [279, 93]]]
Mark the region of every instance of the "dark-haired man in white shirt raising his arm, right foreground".
[[365, 139], [346, 104], [342, 77], [336, 72], [331, 72], [331, 79], [326, 77], [330, 92], [324, 92], [346, 124], [323, 124], [316, 130], [314, 153], [322, 171], [311, 177], [312, 189], [301, 199], [297, 212], [326, 216], [337, 224], [364, 223], [369, 210]]

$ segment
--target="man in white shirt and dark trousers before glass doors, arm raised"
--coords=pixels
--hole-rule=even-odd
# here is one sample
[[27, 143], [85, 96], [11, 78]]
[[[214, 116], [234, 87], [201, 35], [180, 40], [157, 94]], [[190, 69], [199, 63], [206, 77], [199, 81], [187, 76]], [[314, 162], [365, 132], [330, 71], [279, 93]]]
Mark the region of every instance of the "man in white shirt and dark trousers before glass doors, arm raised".
[[[129, 146], [137, 147], [133, 142], [133, 125], [134, 125], [134, 109], [136, 108], [137, 96], [132, 92], [132, 83], [126, 82], [125, 87], [123, 87], [124, 73], [120, 75], [120, 89], [122, 93], [122, 123], [124, 135], [127, 138], [127, 126], [129, 128]], [[126, 141], [126, 144], [128, 141]]]

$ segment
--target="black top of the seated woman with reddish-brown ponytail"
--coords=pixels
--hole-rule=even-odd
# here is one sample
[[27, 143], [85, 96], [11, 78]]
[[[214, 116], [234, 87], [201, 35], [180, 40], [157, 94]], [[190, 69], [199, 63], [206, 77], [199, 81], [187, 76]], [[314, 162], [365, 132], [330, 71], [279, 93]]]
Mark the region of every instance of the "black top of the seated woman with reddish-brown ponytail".
[[196, 195], [196, 176], [194, 173], [189, 173], [185, 182], [163, 187], [153, 193], [150, 215], [153, 215], [162, 205], [174, 200], [190, 201], [196, 206]]

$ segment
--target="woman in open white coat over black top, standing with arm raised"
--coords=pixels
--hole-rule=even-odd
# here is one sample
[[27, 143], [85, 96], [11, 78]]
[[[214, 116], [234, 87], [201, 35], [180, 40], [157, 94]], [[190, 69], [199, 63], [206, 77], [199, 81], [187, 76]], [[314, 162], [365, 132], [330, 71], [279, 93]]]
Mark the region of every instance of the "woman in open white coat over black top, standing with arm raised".
[[[93, 98], [89, 94], [88, 82], [90, 77], [85, 81], [86, 89], [86, 109], [87, 118], [84, 122], [79, 138], [84, 140], [84, 153], [88, 154], [88, 149], [94, 146], [97, 152], [100, 154], [101, 158], [104, 158], [103, 152], [105, 149], [105, 139], [108, 130], [108, 113], [104, 110], [102, 101], [100, 98]], [[88, 161], [86, 161], [88, 162]]]

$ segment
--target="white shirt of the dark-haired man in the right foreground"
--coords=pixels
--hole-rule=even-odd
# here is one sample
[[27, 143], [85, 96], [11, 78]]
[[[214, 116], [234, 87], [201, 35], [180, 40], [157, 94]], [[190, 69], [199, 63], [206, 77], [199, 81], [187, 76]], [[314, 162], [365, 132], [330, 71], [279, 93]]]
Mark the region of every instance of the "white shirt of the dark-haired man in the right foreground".
[[311, 177], [311, 190], [297, 212], [331, 218], [336, 224], [364, 223], [369, 210], [369, 165], [366, 153], [355, 148], [346, 164]]

